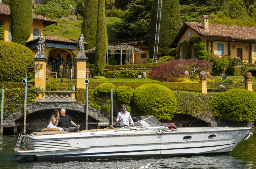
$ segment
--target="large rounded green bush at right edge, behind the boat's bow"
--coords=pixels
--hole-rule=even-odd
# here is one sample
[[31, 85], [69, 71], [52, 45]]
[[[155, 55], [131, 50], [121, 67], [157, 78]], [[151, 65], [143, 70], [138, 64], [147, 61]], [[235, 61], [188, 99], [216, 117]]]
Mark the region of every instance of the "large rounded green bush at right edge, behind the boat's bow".
[[212, 101], [215, 116], [230, 121], [256, 120], [256, 93], [244, 89], [230, 89]]

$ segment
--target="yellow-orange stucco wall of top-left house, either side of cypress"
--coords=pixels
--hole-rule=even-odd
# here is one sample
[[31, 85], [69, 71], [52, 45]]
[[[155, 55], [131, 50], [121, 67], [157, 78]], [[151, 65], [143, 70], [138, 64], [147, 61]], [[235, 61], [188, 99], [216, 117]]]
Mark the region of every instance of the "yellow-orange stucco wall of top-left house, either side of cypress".
[[[5, 26], [4, 40], [9, 41], [9, 26], [11, 26], [11, 17], [0, 15], [0, 20], [4, 21], [4, 26]], [[35, 28], [38, 29], [39, 34], [40, 34], [40, 32], [43, 32], [43, 22], [33, 19], [32, 31], [31, 31], [30, 37], [28, 38], [28, 41], [33, 40], [33, 30]]]

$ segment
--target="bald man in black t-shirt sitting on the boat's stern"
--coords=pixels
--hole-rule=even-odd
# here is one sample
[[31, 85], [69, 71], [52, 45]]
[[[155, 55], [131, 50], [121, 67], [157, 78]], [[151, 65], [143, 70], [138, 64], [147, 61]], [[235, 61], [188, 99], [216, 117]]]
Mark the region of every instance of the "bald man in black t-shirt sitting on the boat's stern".
[[[66, 110], [65, 108], [62, 108], [60, 110], [60, 119], [58, 122], [58, 127], [63, 128], [64, 131], [68, 131], [68, 132], [78, 132], [80, 125], [76, 125], [76, 123], [74, 123], [72, 121], [72, 118], [69, 115], [66, 115]], [[75, 126], [75, 127], [69, 127], [69, 122]]]

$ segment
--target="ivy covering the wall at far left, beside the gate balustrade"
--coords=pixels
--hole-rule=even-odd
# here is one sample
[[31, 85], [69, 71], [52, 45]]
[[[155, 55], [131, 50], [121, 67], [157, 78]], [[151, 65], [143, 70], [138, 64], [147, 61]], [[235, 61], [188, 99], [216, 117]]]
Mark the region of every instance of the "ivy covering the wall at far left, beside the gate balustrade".
[[[36, 87], [27, 89], [27, 105], [36, 102], [37, 91]], [[24, 107], [24, 86], [21, 89], [4, 89], [4, 115], [16, 112], [22, 107]]]

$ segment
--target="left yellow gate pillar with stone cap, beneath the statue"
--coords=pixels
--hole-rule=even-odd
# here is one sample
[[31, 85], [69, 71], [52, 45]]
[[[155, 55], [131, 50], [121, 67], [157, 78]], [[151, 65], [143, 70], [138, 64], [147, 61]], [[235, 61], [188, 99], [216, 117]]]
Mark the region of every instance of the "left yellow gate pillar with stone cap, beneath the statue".
[[35, 60], [35, 87], [42, 86], [46, 90], [46, 64], [48, 58], [45, 57], [43, 52], [40, 52], [40, 55], [36, 54], [33, 59]]

